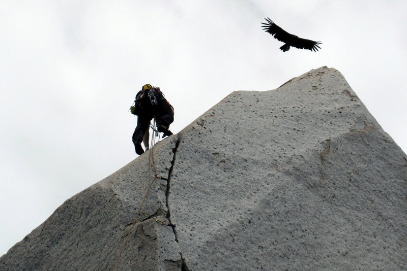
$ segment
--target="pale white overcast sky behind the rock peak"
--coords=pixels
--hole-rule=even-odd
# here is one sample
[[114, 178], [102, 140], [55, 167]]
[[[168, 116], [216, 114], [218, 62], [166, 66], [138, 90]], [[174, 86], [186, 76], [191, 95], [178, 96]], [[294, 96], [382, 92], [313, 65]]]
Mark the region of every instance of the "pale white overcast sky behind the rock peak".
[[[0, 0], [0, 256], [136, 158], [143, 84], [161, 87], [177, 133], [232, 91], [327, 65], [406, 152], [405, 14], [405, 0]], [[283, 53], [264, 17], [322, 49]]]

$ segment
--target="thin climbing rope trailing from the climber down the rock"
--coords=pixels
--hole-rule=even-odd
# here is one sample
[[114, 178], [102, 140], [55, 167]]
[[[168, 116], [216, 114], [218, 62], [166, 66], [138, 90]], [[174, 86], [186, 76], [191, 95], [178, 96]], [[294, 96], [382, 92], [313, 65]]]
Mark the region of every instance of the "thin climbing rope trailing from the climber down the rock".
[[[143, 199], [142, 199], [142, 201], [141, 201], [140, 207], [138, 208], [137, 215], [136, 215], [136, 217], [134, 218], [133, 223], [132, 223], [132, 226], [131, 226], [129, 232], [127, 233], [127, 235], [126, 235], [126, 239], [125, 239], [125, 241], [124, 241], [123, 247], [122, 247], [122, 249], [120, 250], [119, 255], [117, 256], [116, 261], [114, 262], [114, 265], [113, 265], [113, 267], [112, 267], [112, 271], [114, 271], [114, 268], [115, 268], [115, 267], [117, 266], [117, 264], [119, 263], [120, 257], [122, 256], [122, 253], [123, 253], [123, 251], [124, 251], [125, 248], [126, 248], [127, 242], [129, 241], [129, 238], [130, 238], [130, 234], [131, 234], [131, 232], [132, 232], [134, 226], [135, 226], [136, 223], [137, 223], [138, 217], [139, 217], [139, 215], [141, 214], [141, 210], [142, 210], [142, 208], [143, 208], [143, 206], [144, 206], [144, 203], [146, 203], [146, 199], [147, 199], [147, 197], [148, 197], [148, 195], [149, 195], [149, 193], [150, 193], [151, 187], [153, 186], [154, 182], [155, 182], [157, 179], [161, 179], [161, 177], [157, 174], [157, 167], [156, 167], [156, 163], [155, 163], [155, 161], [154, 161], [154, 148], [153, 148], [153, 147], [154, 147], [154, 145], [155, 145], [155, 138], [157, 137], [157, 134], [159, 134], [159, 132], [155, 129], [155, 124], [156, 124], [156, 123], [155, 123], [155, 120], [154, 120], [154, 124], [153, 124], [153, 126], [152, 126], [152, 128], [153, 128], [153, 134], [152, 134], [151, 143], [150, 143], [151, 145], [150, 145], [150, 157], [149, 157], [149, 164], [150, 164], [150, 168], [151, 168], [151, 166], [153, 167], [152, 169], [153, 169], [153, 171], [154, 171], [154, 178], [153, 178], [153, 180], [151, 181], [149, 187], [147, 188], [146, 194], [144, 194], [144, 197], [143, 197]], [[150, 126], [151, 126], [151, 124], [150, 124]], [[159, 136], [158, 136], [158, 141], [160, 141], [160, 137], [159, 137]]]

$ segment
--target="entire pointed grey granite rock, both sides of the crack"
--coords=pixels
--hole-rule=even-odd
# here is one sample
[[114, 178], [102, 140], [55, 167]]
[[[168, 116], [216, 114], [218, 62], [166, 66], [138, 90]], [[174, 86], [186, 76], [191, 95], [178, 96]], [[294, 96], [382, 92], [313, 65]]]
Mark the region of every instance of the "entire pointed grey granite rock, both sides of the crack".
[[0, 270], [112, 270], [120, 253], [114, 270], [405, 270], [406, 195], [407, 156], [321, 67], [231, 93], [68, 199]]

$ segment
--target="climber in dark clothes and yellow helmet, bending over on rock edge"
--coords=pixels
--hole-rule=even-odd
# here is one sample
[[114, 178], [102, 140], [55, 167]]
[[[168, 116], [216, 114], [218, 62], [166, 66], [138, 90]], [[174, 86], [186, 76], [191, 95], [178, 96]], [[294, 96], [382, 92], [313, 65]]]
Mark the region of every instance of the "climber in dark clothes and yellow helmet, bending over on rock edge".
[[164, 133], [163, 137], [172, 134], [168, 128], [174, 121], [174, 111], [164, 98], [159, 87], [153, 87], [150, 84], [142, 86], [136, 95], [135, 112], [133, 114], [137, 115], [137, 126], [133, 133], [133, 144], [138, 155], [144, 153], [141, 142], [144, 143], [147, 150], [148, 133], [146, 134], [146, 132], [153, 118], [156, 120], [157, 130]]

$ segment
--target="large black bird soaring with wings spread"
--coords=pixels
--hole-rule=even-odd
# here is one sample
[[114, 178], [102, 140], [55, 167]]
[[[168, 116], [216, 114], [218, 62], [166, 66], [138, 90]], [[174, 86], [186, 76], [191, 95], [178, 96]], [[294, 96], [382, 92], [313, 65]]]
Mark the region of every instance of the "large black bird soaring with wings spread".
[[281, 51], [286, 52], [291, 46], [298, 49], [311, 50], [314, 52], [318, 51], [318, 48], [321, 49], [321, 47], [318, 46], [318, 44], [321, 44], [321, 42], [302, 39], [296, 35], [290, 34], [282, 29], [280, 26], [275, 24], [272, 20], [270, 20], [270, 18], [267, 18], [266, 21], [267, 23], [262, 22], [263, 25], [261, 25], [261, 27], [263, 27], [263, 30], [269, 32], [272, 36], [274, 36], [275, 39], [279, 40], [280, 42], [285, 43], [283, 46], [280, 47]]

